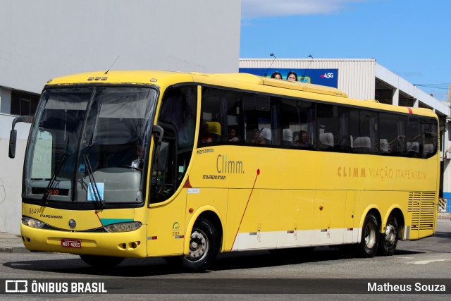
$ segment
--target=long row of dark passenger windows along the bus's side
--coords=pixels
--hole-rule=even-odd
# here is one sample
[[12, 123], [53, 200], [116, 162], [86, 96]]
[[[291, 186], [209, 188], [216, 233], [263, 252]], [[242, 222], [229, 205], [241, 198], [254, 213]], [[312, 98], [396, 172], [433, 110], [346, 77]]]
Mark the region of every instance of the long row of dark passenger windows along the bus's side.
[[199, 147], [215, 144], [317, 149], [389, 156], [433, 156], [433, 118], [309, 99], [202, 88]]

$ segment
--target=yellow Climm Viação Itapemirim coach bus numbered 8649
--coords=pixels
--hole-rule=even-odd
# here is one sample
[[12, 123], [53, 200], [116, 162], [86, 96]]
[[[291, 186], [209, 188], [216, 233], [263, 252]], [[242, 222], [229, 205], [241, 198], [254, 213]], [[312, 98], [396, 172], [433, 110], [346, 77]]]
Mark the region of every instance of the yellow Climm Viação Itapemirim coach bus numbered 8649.
[[109, 71], [47, 83], [25, 152], [28, 250], [92, 266], [435, 233], [438, 118], [245, 73]]

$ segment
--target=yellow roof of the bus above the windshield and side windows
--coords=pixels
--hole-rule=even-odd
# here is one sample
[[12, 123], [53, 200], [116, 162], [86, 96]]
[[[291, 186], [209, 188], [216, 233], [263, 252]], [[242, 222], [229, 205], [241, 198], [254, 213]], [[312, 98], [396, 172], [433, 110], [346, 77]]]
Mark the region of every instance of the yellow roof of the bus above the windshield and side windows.
[[[249, 73], [185, 73], [161, 70], [109, 70], [108, 72], [93, 71], [66, 75], [49, 80], [47, 85], [142, 84], [159, 85], [162, 88], [166, 88], [180, 82], [199, 82], [207, 85], [218, 85], [257, 92], [273, 92], [276, 94], [294, 97], [311, 97], [312, 99], [324, 100], [326, 102], [364, 106], [372, 109], [387, 111], [398, 111], [400, 113], [433, 116], [436, 118], [435, 113], [430, 109], [393, 106], [390, 104], [381, 104], [376, 100], [370, 99], [366, 101], [350, 99], [347, 97], [345, 92], [342, 92], [334, 87], [326, 87], [304, 82], [290, 82], [288, 80], [266, 78]], [[299, 92], [301, 92], [301, 94], [299, 94]], [[328, 97], [321, 97], [321, 94], [328, 95]]]

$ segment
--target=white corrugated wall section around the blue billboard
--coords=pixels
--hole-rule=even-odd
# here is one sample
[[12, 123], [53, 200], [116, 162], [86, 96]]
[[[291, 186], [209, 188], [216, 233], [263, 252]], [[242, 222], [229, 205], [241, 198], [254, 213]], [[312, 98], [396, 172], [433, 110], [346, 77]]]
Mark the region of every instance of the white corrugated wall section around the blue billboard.
[[338, 89], [355, 99], [374, 99], [375, 65], [375, 59], [240, 59], [240, 68], [338, 69]]

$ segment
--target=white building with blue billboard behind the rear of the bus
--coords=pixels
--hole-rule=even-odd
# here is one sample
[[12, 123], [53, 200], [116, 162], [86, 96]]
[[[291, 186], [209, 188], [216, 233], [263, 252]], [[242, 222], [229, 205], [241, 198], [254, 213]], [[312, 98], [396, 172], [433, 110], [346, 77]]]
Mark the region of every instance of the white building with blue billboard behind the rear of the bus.
[[396, 106], [432, 109], [440, 119], [441, 168], [440, 196], [451, 209], [451, 125], [450, 102], [440, 102], [404, 78], [376, 63], [376, 59], [240, 59], [240, 72], [283, 78], [295, 70], [299, 80], [330, 85], [354, 99], [376, 99]]

